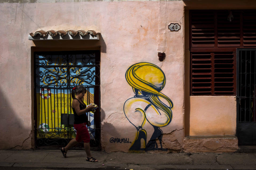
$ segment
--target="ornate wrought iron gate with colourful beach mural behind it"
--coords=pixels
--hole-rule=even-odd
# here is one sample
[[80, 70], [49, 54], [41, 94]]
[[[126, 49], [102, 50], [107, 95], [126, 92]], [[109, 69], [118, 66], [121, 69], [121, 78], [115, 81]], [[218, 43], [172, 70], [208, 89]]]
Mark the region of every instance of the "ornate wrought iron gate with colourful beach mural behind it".
[[87, 89], [84, 103], [99, 106], [95, 113], [87, 113], [87, 128], [92, 149], [100, 149], [99, 51], [36, 52], [34, 58], [36, 148], [66, 146], [76, 137], [71, 90], [81, 85]]

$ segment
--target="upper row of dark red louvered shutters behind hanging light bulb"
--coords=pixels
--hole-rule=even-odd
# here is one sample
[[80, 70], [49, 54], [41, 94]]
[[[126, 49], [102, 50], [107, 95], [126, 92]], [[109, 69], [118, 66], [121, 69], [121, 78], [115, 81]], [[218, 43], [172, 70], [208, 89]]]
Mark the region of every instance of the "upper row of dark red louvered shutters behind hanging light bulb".
[[190, 48], [255, 47], [256, 10], [190, 10], [190, 36]]

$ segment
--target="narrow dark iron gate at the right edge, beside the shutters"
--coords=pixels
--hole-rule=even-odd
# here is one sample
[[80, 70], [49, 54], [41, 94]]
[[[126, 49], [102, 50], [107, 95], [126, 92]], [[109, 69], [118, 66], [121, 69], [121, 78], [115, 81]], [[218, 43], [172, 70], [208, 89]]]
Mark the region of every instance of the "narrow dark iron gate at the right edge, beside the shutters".
[[237, 49], [237, 137], [256, 145], [256, 49]]

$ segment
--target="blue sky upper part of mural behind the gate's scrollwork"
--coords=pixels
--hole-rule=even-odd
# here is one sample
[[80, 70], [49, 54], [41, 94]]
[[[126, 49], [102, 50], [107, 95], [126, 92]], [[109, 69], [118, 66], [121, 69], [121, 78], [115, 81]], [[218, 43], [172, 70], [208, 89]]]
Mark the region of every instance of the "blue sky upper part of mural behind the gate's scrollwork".
[[92, 86], [95, 85], [95, 56], [93, 54], [36, 55], [36, 84], [37, 93], [41, 90], [40, 86], [49, 87], [53, 92], [55, 87], [55, 93], [67, 94], [70, 93], [67, 87], [72, 89], [82, 85], [91, 86], [87, 90], [94, 94]]

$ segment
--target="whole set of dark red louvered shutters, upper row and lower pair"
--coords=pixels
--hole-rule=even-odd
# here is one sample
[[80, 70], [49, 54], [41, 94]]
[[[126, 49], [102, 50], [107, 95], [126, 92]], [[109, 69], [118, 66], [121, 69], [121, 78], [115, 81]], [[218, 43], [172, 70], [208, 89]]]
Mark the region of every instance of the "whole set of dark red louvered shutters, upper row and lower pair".
[[256, 47], [256, 10], [190, 10], [189, 17], [190, 95], [235, 95], [235, 52]]

